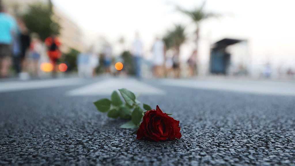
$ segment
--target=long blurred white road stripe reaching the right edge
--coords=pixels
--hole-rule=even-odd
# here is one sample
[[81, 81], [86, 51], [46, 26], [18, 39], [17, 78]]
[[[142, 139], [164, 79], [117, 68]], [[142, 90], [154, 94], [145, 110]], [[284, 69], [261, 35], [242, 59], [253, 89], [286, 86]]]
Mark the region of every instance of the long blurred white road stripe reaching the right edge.
[[163, 79], [161, 84], [168, 86], [190, 87], [196, 89], [218, 89], [235, 92], [248, 92], [266, 95], [295, 96], [294, 82], [276, 82], [271, 80], [242, 80], [242, 79], [194, 79], [174, 80]]

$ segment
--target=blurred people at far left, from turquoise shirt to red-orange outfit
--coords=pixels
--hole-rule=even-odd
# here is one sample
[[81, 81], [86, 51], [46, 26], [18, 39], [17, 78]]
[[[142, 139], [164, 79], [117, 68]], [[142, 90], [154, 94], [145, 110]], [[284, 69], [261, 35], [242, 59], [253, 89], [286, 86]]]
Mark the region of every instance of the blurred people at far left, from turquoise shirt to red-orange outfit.
[[3, 6], [0, 10], [0, 77], [9, 77], [11, 67], [20, 79], [38, 77], [44, 53], [56, 77], [57, 61], [62, 54], [59, 39], [51, 35], [42, 41], [37, 33], [30, 32], [21, 17], [9, 15]]

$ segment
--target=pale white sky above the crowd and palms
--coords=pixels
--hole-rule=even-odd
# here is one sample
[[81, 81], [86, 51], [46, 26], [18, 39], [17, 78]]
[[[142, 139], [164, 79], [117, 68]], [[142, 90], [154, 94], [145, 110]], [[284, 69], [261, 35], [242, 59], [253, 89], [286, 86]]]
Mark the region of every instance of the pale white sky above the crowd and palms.
[[[135, 31], [140, 32], [148, 53], [155, 36], [162, 36], [173, 24], [187, 25], [189, 40], [182, 47], [186, 59], [194, 46], [194, 24], [189, 17], [176, 11], [179, 5], [193, 9], [203, 1], [196, 0], [53, 0], [55, 6], [76, 22], [87, 41], [104, 36], [117, 44], [121, 36], [127, 45], [132, 43]], [[204, 48], [225, 37], [246, 39], [249, 52], [257, 64], [273, 63], [295, 65], [295, 1], [292, 0], [207, 0], [205, 10], [221, 14], [201, 23], [201, 41]], [[205, 49], [205, 50], [206, 50]], [[207, 55], [206, 55], [207, 56]], [[208, 60], [208, 57], [203, 58]]]

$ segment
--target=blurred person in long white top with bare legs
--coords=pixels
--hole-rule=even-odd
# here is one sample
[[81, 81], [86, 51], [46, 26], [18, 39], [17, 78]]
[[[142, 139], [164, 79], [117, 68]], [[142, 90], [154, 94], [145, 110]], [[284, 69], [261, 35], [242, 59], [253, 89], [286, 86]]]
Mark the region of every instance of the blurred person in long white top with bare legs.
[[165, 44], [160, 38], [156, 38], [152, 48], [153, 52], [153, 74], [155, 77], [162, 77], [164, 73], [163, 65], [165, 61]]

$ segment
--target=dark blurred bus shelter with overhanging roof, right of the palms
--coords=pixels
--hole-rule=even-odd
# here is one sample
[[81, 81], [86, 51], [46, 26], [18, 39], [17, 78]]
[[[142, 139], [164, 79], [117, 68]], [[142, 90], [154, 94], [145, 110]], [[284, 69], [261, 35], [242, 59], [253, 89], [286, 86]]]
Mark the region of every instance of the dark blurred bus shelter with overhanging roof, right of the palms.
[[227, 46], [233, 45], [244, 40], [224, 38], [214, 43], [210, 53], [210, 73], [227, 74], [230, 65], [230, 53], [226, 51]]

